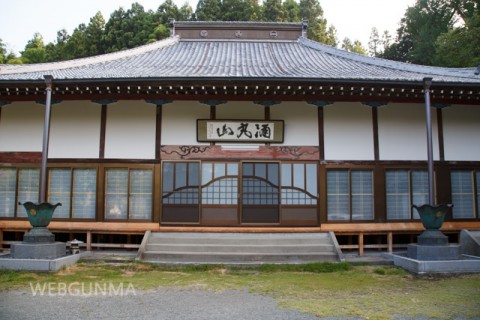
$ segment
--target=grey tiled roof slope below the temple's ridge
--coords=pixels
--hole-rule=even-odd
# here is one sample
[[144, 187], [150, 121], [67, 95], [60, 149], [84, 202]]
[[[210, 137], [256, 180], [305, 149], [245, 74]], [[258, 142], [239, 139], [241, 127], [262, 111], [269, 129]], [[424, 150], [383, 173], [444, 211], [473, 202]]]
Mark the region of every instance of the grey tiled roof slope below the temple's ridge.
[[[389, 61], [306, 38], [182, 40], [178, 36], [138, 48], [71, 61], [0, 65], [0, 83], [43, 80], [309, 79], [480, 84], [477, 68], [439, 68]], [[478, 73], [478, 72], [477, 72]]]

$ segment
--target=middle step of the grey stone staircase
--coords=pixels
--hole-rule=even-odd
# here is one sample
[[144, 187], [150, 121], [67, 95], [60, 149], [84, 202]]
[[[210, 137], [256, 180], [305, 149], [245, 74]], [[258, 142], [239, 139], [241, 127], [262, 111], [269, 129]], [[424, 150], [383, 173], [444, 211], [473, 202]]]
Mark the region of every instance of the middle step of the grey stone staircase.
[[264, 245], [264, 244], [157, 244], [149, 243], [146, 251], [164, 252], [251, 252], [251, 253], [311, 253], [311, 252], [332, 252], [333, 244], [285, 244], [285, 245]]

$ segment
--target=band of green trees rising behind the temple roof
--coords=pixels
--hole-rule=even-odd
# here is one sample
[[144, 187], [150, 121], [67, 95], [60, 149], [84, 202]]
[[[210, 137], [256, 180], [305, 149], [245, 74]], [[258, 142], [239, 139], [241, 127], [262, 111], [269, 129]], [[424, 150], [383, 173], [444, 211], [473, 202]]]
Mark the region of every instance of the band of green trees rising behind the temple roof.
[[[119, 7], [108, 20], [97, 12], [88, 24], [69, 34], [62, 29], [55, 41], [44, 43], [38, 33], [20, 57], [7, 53], [0, 40], [0, 63], [39, 63], [88, 57], [137, 47], [170, 35], [168, 22], [308, 20], [308, 38], [336, 47], [336, 29], [324, 17], [319, 0], [199, 0], [195, 10], [187, 2], [180, 8], [165, 0], [156, 11], [139, 3]], [[344, 50], [366, 54], [367, 49], [345, 38]], [[480, 63], [480, 0], [417, 0], [399, 23], [392, 40], [387, 32], [372, 29], [368, 53], [372, 56], [426, 65], [477, 66]]]

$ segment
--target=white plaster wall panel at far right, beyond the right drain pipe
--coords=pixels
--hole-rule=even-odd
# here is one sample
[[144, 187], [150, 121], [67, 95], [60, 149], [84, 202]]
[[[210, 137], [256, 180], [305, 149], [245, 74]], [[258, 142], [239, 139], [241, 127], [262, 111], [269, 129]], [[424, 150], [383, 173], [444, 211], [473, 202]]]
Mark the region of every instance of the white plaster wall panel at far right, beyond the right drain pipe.
[[480, 161], [480, 107], [442, 110], [445, 160]]

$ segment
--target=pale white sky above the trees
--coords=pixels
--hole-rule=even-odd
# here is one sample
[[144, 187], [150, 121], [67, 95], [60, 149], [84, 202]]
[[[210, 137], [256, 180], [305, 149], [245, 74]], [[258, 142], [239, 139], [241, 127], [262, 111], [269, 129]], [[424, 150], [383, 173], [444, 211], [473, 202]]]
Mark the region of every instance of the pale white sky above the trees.
[[[138, 2], [145, 10], [156, 10], [164, 0], [0, 0], [0, 39], [8, 51], [18, 53], [39, 32], [45, 44], [56, 39], [57, 31], [66, 29], [69, 34], [80, 24], [88, 24], [98, 11], [105, 21], [122, 6], [129, 9]], [[408, 6], [415, 0], [319, 0], [328, 24], [337, 29], [339, 42], [345, 37], [358, 39], [368, 47], [373, 27], [392, 35]], [[181, 6], [185, 0], [174, 0]], [[197, 0], [188, 0], [195, 10]]]

